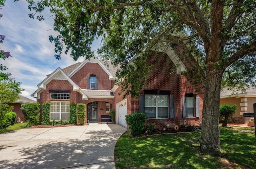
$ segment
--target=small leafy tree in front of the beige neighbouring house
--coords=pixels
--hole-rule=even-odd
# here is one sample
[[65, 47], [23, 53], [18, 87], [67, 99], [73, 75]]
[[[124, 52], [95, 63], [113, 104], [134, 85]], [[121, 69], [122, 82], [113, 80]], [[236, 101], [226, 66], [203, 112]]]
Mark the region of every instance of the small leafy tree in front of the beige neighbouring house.
[[224, 118], [224, 122], [222, 126], [227, 127], [228, 118], [235, 114], [237, 110], [236, 104], [234, 106], [229, 104], [222, 104], [220, 105], [220, 117]]

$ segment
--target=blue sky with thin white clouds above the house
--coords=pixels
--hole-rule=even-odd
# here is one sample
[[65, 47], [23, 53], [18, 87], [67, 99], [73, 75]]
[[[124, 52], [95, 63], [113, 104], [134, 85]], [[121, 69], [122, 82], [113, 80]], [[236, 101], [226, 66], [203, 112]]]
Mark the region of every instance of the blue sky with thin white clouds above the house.
[[[44, 11], [44, 21], [40, 22], [31, 19], [28, 14], [26, 0], [6, 0], [0, 10], [3, 14], [0, 18], [0, 35], [6, 35], [4, 43], [0, 43], [1, 50], [10, 51], [13, 57], [3, 61], [8, 70], [12, 73], [12, 78], [21, 82], [24, 89], [22, 96], [32, 98], [32, 94], [38, 89], [37, 85], [58, 67], [64, 68], [76, 62], [70, 55], [62, 54], [60, 60], [55, 59], [54, 43], [50, 43], [49, 35], [56, 35], [52, 30], [53, 18], [48, 10]], [[100, 47], [100, 41], [94, 41], [92, 50]], [[96, 52], [94, 52], [96, 55]], [[83, 57], [77, 62], [82, 62]]]

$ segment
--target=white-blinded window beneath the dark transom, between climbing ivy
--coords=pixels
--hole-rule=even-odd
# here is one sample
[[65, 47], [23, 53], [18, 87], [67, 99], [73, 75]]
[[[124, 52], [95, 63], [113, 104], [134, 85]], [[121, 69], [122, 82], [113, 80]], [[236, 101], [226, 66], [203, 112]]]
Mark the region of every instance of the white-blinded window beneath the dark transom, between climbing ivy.
[[50, 102], [50, 120], [70, 120], [70, 102]]

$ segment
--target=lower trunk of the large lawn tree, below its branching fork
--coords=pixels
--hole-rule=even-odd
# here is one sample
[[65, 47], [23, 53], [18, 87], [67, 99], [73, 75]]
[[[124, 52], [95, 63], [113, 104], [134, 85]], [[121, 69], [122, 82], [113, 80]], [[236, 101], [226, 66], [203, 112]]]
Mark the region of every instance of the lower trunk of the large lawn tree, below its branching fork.
[[206, 73], [201, 149], [207, 152], [218, 152], [220, 151], [220, 88], [223, 71], [214, 69], [214, 63], [210, 63], [206, 67]]

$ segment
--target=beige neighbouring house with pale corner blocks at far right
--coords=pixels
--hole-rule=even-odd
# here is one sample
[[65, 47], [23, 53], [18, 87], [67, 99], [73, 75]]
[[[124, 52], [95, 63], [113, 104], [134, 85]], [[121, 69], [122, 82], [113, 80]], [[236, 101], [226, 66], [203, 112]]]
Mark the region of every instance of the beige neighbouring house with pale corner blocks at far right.
[[231, 90], [224, 88], [220, 91], [220, 105], [236, 104], [238, 110], [236, 114], [231, 116], [230, 122], [247, 124], [250, 117], [244, 117], [244, 113], [253, 113], [253, 104], [256, 103], [256, 88], [250, 87], [245, 92], [238, 91], [237, 94], [232, 94]]

